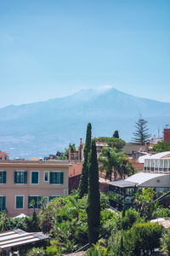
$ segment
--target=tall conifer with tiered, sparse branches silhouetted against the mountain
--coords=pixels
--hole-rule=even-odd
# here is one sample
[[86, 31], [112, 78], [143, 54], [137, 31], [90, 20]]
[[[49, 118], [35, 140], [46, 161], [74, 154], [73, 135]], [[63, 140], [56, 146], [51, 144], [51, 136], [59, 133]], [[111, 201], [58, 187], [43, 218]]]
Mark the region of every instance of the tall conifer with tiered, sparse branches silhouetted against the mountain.
[[144, 143], [146, 143], [147, 140], [150, 138], [150, 134], [148, 133], [149, 128], [147, 124], [148, 122], [143, 118], [139, 118], [139, 120], [135, 123], [136, 130], [133, 132], [134, 143], [144, 145]]

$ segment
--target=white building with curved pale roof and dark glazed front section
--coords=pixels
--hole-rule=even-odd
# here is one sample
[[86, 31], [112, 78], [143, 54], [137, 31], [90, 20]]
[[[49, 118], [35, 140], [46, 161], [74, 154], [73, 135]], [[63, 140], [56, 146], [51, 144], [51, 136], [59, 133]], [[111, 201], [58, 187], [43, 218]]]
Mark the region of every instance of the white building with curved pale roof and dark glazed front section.
[[112, 207], [122, 209], [123, 203], [127, 208], [133, 206], [133, 196], [138, 189], [151, 188], [158, 193], [170, 190], [170, 151], [141, 156], [139, 163], [144, 163], [143, 172], [110, 183]]

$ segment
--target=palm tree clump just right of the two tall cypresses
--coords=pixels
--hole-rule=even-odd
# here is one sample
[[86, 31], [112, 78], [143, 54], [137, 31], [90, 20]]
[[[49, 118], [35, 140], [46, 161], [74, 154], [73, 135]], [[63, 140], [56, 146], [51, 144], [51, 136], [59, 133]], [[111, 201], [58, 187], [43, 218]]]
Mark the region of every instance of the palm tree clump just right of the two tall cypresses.
[[101, 171], [105, 171], [105, 177], [112, 177], [112, 172], [114, 173], [114, 178], [116, 180], [117, 173], [121, 177], [126, 177], [134, 173], [133, 164], [127, 160], [127, 155], [123, 152], [117, 152], [114, 148], [104, 147], [99, 155], [99, 166]]

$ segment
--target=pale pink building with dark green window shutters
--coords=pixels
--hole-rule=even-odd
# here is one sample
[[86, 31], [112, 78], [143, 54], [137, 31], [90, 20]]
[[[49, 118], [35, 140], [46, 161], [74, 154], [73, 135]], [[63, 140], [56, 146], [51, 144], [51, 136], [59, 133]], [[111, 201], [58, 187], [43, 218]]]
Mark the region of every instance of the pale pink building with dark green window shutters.
[[0, 210], [9, 217], [25, 213], [31, 215], [31, 200], [36, 211], [56, 196], [68, 195], [68, 161], [0, 161]]

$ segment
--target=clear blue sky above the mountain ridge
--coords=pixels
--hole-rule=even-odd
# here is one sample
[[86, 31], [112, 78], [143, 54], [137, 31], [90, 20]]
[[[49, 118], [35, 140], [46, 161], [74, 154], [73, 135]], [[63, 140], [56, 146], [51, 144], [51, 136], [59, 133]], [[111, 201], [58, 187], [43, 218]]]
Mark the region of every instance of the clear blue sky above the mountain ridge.
[[169, 0], [0, 1], [0, 108], [105, 85], [170, 102]]

